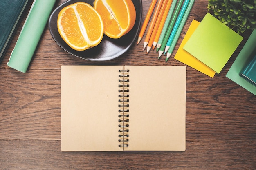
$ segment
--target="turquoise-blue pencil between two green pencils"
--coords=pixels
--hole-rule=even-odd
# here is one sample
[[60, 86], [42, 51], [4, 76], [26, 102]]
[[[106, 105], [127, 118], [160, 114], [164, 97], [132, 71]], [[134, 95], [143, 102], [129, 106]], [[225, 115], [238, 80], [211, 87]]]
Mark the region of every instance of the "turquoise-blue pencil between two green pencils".
[[175, 34], [177, 32], [177, 29], [178, 29], [178, 27], [180, 25], [180, 22], [181, 22], [181, 20], [183, 18], [183, 15], [184, 15], [185, 11], [186, 11], [186, 8], [188, 7], [189, 1], [190, 0], [185, 0], [184, 4], [183, 4], [183, 6], [182, 6], [182, 8], [180, 10], [180, 15], [178, 16], [178, 18], [177, 18], [177, 20], [176, 20], [176, 22], [175, 22], [175, 24], [173, 26], [173, 31], [171, 32], [171, 35], [170, 35], [170, 37], [169, 37], [169, 39], [168, 39], [168, 41], [166, 43], [164, 54], [170, 48], [171, 42], [173, 41], [173, 38], [174, 38], [174, 36], [175, 36]]

